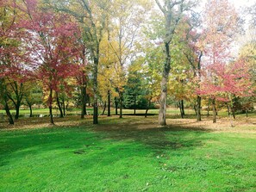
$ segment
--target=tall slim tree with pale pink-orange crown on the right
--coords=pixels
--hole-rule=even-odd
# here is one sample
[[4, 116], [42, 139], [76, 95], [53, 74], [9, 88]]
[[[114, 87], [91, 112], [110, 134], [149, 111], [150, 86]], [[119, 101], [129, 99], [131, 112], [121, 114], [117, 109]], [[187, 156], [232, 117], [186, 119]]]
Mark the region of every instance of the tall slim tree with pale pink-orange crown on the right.
[[[217, 86], [217, 77], [215, 77], [215, 69], [228, 63], [231, 59], [230, 50], [234, 35], [238, 32], [239, 17], [234, 6], [228, 0], [209, 0], [205, 5], [204, 11], [204, 66], [208, 68], [208, 72], [204, 73], [205, 78], [211, 78], [213, 87]], [[219, 70], [223, 67], [219, 68]], [[211, 71], [213, 70], [213, 71]], [[209, 90], [209, 89], [208, 89]], [[216, 122], [215, 111], [215, 91], [209, 91], [212, 100], [213, 122]]]

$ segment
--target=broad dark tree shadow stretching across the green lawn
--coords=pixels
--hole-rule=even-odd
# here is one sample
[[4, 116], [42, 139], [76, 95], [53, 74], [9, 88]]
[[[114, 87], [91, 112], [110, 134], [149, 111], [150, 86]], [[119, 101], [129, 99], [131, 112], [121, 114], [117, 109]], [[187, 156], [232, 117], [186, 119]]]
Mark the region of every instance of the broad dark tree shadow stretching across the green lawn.
[[201, 136], [208, 132], [195, 127], [157, 127], [147, 120], [125, 120], [115, 125], [107, 121], [92, 128], [57, 127], [13, 131], [2, 134], [0, 162], [2, 166], [9, 164], [9, 158], [22, 162], [22, 158], [29, 155], [40, 159], [41, 154], [56, 157], [59, 154], [58, 158], [61, 159], [61, 155], [65, 154], [63, 158], [78, 159], [71, 166], [90, 169], [116, 164], [126, 158], [145, 158], [174, 151], [182, 154], [203, 146]]

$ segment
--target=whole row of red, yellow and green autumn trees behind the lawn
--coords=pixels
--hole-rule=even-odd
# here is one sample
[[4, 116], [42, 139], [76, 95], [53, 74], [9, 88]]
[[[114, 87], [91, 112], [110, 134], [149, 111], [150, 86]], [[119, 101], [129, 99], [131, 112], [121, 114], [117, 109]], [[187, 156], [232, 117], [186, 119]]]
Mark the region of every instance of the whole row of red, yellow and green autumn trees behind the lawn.
[[[253, 5], [255, 7], [256, 4]], [[165, 126], [166, 106], [184, 101], [201, 121], [202, 102], [233, 114], [255, 102], [255, 13], [247, 31], [228, 0], [7, 0], [0, 3], [0, 102], [10, 108], [34, 103], [60, 116], [72, 101], [86, 115], [92, 98], [93, 123], [104, 108], [153, 108]], [[243, 38], [234, 54], [238, 37]], [[240, 40], [241, 42], [241, 40]], [[90, 101], [90, 100], [89, 100]], [[105, 109], [103, 110], [104, 113]], [[31, 112], [32, 113], [32, 112]], [[235, 116], [234, 116], [235, 117]]]

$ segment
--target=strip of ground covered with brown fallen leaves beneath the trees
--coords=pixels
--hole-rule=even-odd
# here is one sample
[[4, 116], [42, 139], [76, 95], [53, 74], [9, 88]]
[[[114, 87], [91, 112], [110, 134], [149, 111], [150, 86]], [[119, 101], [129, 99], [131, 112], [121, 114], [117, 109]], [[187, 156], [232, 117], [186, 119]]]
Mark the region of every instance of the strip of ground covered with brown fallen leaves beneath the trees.
[[[211, 132], [232, 132], [232, 133], [256, 133], [256, 116], [240, 117], [236, 120], [229, 118], [218, 118], [217, 123], [213, 123], [211, 117], [203, 117], [202, 121], [196, 119], [172, 119], [166, 120], [168, 128], [172, 130], [202, 130]], [[49, 118], [23, 118], [16, 121], [14, 126], [8, 122], [0, 122], [0, 130], [33, 129], [42, 127], [92, 127], [96, 131], [134, 131], [160, 128], [157, 116], [125, 116], [119, 119], [118, 116], [100, 116], [99, 125], [92, 125], [92, 116], [87, 116], [81, 120], [79, 116], [67, 116], [65, 118], [55, 118], [55, 125], [49, 124]], [[233, 127], [231, 127], [231, 125]]]

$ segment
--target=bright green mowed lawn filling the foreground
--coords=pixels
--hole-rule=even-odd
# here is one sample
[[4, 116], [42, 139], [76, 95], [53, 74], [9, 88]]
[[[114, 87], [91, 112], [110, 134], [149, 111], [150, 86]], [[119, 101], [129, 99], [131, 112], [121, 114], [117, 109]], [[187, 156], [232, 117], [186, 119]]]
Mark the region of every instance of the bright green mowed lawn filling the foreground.
[[156, 119], [2, 129], [0, 191], [256, 191], [255, 129], [157, 127]]

